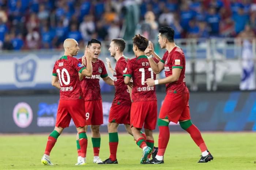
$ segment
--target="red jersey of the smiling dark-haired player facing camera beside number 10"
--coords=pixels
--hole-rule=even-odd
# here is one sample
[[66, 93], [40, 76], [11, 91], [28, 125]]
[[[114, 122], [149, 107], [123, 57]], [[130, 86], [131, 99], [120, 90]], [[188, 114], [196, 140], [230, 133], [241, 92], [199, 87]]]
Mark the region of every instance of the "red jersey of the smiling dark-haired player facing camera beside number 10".
[[[79, 61], [82, 62], [82, 58]], [[93, 75], [91, 77], [83, 76], [81, 81], [84, 101], [101, 99], [99, 79], [108, 76], [106, 67], [101, 60], [97, 59], [95, 63], [91, 62], [91, 64], [93, 65]]]

